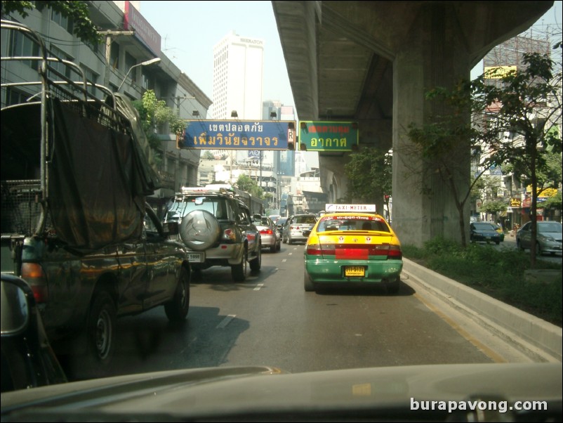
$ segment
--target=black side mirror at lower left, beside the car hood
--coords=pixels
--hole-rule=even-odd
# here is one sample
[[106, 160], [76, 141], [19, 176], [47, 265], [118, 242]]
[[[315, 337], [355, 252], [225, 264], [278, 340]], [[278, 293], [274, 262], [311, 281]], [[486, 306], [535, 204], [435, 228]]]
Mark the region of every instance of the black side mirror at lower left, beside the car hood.
[[67, 382], [27, 282], [2, 273], [0, 302], [1, 391]]

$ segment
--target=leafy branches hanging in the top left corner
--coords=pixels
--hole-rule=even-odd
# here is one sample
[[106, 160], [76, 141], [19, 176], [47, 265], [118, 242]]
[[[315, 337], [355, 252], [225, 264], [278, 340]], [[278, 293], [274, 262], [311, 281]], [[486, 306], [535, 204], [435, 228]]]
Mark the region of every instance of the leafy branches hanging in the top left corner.
[[3, 16], [18, 13], [22, 18], [27, 17], [29, 15], [28, 11], [32, 11], [34, 8], [37, 8], [39, 11], [45, 7], [51, 8], [53, 11], [65, 16], [65, 18], [72, 19], [72, 32], [85, 43], [96, 46], [102, 41], [98, 28], [95, 27], [90, 19], [90, 11], [88, 11], [88, 5], [85, 1], [2, 0], [1, 7]]

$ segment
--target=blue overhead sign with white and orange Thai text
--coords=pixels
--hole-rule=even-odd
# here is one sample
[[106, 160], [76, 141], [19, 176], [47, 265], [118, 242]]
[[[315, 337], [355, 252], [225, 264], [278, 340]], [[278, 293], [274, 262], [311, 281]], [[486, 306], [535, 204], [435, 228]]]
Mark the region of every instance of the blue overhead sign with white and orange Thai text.
[[182, 148], [295, 150], [295, 121], [188, 120]]

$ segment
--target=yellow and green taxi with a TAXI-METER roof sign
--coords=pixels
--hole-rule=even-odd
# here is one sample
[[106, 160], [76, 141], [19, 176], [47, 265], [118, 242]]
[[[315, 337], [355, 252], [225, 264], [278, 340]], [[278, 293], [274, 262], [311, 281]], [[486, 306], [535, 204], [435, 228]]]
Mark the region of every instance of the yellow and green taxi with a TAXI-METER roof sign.
[[338, 204], [338, 211], [324, 214], [303, 235], [305, 291], [330, 284], [382, 284], [390, 293], [399, 291], [401, 242], [375, 205]]

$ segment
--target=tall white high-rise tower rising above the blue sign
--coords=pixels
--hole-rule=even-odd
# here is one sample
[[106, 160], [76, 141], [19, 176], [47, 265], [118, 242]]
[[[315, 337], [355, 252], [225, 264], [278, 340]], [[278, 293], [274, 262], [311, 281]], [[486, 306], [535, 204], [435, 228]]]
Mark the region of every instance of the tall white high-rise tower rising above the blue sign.
[[264, 41], [231, 32], [213, 48], [213, 119], [262, 119]]

